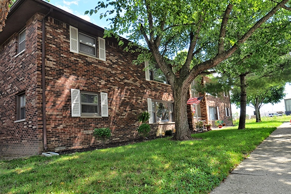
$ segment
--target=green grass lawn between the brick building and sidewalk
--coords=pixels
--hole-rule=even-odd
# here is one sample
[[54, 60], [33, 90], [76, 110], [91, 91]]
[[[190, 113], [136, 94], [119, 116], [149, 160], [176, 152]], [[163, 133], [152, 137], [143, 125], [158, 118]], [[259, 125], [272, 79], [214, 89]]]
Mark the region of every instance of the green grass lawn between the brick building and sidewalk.
[[0, 193], [208, 193], [281, 123], [0, 161]]

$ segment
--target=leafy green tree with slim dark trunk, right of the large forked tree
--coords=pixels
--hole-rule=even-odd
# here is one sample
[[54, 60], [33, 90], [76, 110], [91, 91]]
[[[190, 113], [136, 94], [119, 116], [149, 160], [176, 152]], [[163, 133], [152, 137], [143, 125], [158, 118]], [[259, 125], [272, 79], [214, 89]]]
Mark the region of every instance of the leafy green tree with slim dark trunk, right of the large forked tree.
[[[289, 73], [284, 71], [290, 69], [291, 64], [282, 62], [291, 52], [289, 23], [288, 18], [281, 18], [265, 24], [231, 57], [216, 67], [224, 74], [223, 77], [233, 82], [232, 93], [235, 95], [231, 96], [231, 100], [240, 107], [238, 129], [245, 129], [246, 125], [246, 107], [250, 102], [247, 101], [247, 88], [248, 95], [255, 97], [264, 94], [272, 86], [284, 85], [290, 79]], [[239, 90], [235, 90], [235, 87]], [[254, 93], [251, 92], [252, 88]], [[260, 121], [258, 113], [257, 121]]]

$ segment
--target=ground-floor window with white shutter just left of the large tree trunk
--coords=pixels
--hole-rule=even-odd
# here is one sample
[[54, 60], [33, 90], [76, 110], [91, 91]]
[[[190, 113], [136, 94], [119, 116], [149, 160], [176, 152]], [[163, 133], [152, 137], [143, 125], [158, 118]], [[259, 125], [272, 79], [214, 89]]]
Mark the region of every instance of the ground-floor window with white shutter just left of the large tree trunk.
[[172, 102], [157, 101], [148, 98], [148, 108], [151, 114], [150, 124], [174, 121]]

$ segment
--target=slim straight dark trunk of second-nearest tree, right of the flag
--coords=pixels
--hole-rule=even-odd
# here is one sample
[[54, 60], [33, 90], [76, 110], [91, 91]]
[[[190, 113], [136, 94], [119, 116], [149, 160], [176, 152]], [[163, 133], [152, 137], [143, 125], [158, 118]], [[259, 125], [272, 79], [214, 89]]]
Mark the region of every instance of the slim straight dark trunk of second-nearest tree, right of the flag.
[[240, 74], [240, 115], [238, 129], [246, 129], [247, 85], [246, 74]]

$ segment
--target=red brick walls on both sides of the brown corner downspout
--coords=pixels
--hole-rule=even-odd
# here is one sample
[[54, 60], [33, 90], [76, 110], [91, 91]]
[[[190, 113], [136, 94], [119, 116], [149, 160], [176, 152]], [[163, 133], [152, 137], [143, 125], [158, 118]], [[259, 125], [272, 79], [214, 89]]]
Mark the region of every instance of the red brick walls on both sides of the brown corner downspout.
[[[42, 87], [41, 87], [41, 38], [42, 16], [36, 14], [27, 22], [26, 50], [17, 57], [18, 34], [0, 48], [1, 101], [0, 154], [41, 153], [42, 136]], [[54, 151], [96, 145], [94, 128], [109, 127], [109, 141], [118, 142], [138, 136], [137, 116], [148, 109], [147, 98], [173, 101], [169, 85], [146, 81], [144, 64], [133, 65], [133, 54], [117, 47], [116, 42], [106, 41], [106, 61], [70, 52], [69, 25], [46, 22], [46, 127], [47, 147]], [[82, 30], [82, 29], [79, 29]], [[101, 31], [92, 31], [101, 34]], [[7, 57], [9, 56], [9, 57]], [[108, 118], [71, 117], [71, 89], [86, 92], [108, 93]], [[26, 94], [26, 120], [16, 121], [16, 96]], [[174, 129], [174, 124], [151, 125], [151, 134], [159, 129]]]

